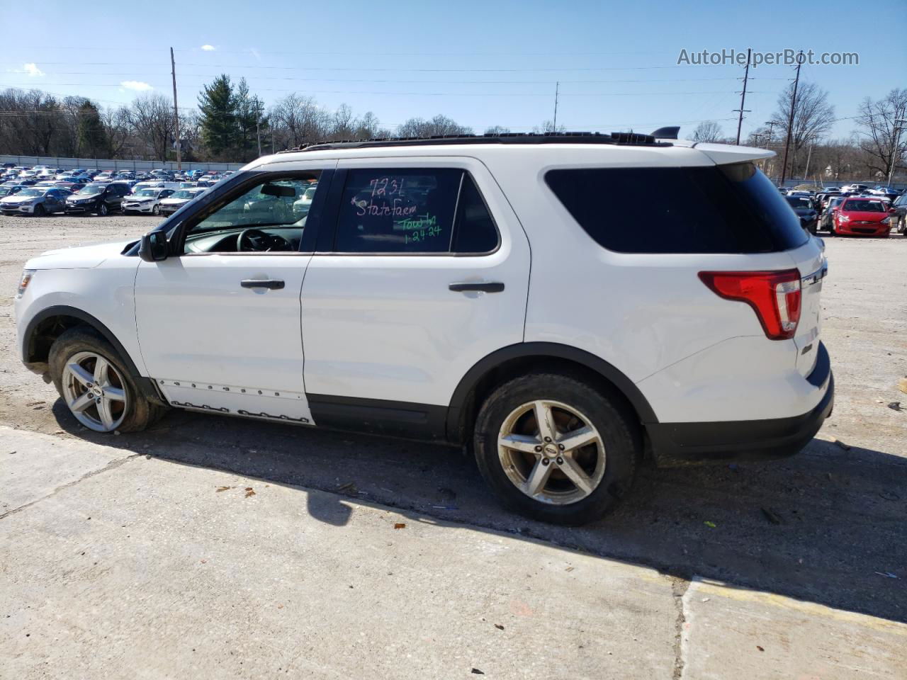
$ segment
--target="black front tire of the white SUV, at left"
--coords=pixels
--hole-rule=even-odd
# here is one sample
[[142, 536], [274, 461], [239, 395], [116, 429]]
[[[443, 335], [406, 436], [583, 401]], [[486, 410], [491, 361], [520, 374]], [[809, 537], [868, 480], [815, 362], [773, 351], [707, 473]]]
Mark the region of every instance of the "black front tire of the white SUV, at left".
[[[106, 370], [99, 369], [99, 359], [108, 364]], [[138, 432], [166, 411], [145, 399], [121, 356], [90, 326], [63, 332], [51, 346], [48, 365], [54, 387], [70, 413], [95, 432]], [[73, 365], [82, 370], [73, 370]], [[92, 403], [95, 397], [101, 401]]]

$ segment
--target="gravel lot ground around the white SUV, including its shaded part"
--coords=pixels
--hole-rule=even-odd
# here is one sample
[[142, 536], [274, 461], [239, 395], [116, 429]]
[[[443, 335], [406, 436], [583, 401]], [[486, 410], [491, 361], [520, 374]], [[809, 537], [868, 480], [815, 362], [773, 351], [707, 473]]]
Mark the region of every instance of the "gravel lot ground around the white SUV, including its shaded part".
[[[74, 422], [52, 387], [19, 363], [16, 279], [25, 259], [44, 250], [137, 237], [155, 222], [0, 217], [0, 424], [98, 441]], [[562, 529], [510, 515], [489, 497], [472, 461], [417, 442], [173, 412], [149, 432], [116, 437], [113, 445], [339, 491], [343, 502], [307, 509], [334, 524], [343, 522], [347, 503], [363, 500], [646, 565], [681, 580], [718, 578], [907, 621], [907, 409], [888, 407], [907, 406], [907, 394], [897, 389], [907, 376], [907, 239], [826, 241], [823, 339], [837, 393], [822, 432], [785, 461], [644, 470], [632, 498], [597, 525]]]

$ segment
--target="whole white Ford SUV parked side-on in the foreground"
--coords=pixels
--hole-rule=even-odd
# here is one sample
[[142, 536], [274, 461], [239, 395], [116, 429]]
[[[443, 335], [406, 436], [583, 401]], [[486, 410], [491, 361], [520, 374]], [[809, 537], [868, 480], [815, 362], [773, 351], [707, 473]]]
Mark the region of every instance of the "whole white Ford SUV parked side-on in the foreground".
[[770, 155], [580, 133], [279, 153], [139, 241], [30, 260], [19, 349], [92, 430], [178, 407], [467, 445], [512, 509], [594, 520], [641, 461], [789, 455], [832, 410], [824, 254]]

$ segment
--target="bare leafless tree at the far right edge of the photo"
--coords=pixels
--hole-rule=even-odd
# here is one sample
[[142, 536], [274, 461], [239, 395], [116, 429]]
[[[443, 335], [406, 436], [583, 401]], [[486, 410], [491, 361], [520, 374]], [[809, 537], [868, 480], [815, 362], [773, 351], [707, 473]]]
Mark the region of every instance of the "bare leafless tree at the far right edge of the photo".
[[[859, 146], [866, 154], [867, 168], [886, 178], [895, 167], [904, 167], [904, 148], [907, 146], [907, 126], [897, 130], [895, 121], [907, 118], [907, 89], [895, 88], [883, 99], [873, 102], [869, 97], [860, 102], [856, 118]], [[900, 132], [900, 134], [898, 134]], [[900, 136], [900, 143], [897, 137]]]

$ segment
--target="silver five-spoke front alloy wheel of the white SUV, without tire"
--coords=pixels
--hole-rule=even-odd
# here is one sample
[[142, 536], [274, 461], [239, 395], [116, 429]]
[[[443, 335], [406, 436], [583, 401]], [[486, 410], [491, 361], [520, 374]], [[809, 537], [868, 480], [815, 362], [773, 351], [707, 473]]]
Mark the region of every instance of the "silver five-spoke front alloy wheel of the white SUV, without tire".
[[79, 352], [63, 366], [63, 400], [75, 419], [95, 432], [112, 432], [126, 417], [122, 375], [102, 355]]

